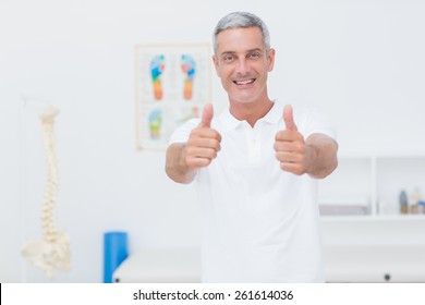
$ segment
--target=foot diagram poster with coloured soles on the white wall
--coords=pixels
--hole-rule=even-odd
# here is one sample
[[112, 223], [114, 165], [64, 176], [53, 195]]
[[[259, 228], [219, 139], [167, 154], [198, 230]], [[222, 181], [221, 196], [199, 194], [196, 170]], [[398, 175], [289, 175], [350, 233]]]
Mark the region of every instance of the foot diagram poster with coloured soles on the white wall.
[[210, 101], [210, 46], [136, 46], [137, 149], [165, 149], [174, 129]]

